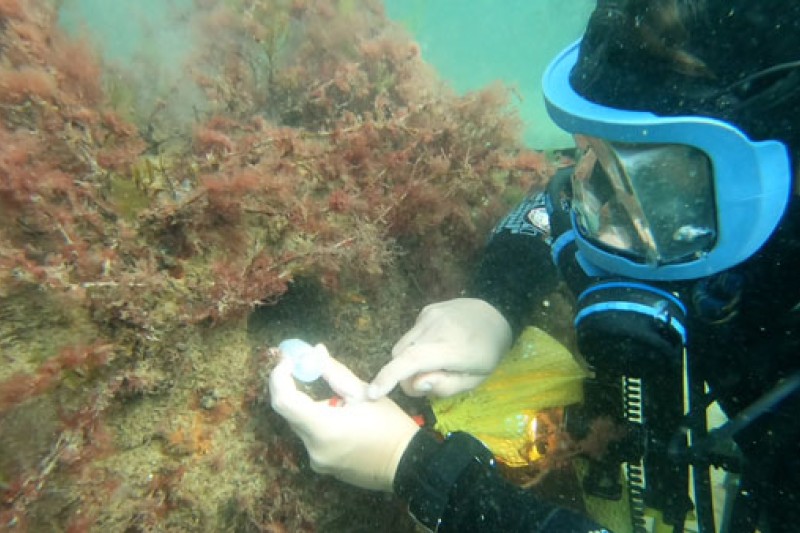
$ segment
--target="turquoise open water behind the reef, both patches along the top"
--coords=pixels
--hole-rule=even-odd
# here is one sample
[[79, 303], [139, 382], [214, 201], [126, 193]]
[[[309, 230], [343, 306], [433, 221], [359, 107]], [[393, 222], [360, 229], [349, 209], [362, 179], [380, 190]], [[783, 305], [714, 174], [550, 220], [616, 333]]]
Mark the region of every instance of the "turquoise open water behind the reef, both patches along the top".
[[[423, 58], [459, 92], [494, 81], [514, 87], [532, 148], [571, 145], [547, 118], [540, 79], [547, 63], [577, 39], [594, 0], [385, 0], [387, 14], [419, 42]], [[61, 21], [86, 26], [117, 61], [159, 57], [179, 65], [191, 38], [176, 25], [191, 0], [66, 0]], [[176, 69], [178, 70], [178, 69]], [[178, 76], [164, 68], [164, 77]]]

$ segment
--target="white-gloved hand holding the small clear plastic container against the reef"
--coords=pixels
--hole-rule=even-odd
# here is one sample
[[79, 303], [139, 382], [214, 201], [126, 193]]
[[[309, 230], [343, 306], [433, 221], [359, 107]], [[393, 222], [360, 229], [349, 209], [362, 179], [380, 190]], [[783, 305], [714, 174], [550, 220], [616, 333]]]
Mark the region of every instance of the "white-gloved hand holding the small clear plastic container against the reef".
[[281, 361], [269, 377], [272, 408], [303, 440], [315, 472], [391, 492], [397, 465], [419, 426], [387, 398], [364, 400], [366, 383], [335, 359], [323, 378], [345, 398], [343, 404], [314, 401], [297, 390], [292, 363]]

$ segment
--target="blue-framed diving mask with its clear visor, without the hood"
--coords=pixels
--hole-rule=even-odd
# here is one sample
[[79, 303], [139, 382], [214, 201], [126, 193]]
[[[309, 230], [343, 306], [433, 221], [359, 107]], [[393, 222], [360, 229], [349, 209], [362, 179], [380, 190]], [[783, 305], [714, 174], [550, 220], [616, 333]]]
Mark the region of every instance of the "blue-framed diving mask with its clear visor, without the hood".
[[583, 259], [611, 274], [669, 281], [753, 255], [790, 197], [786, 147], [712, 118], [591, 102], [569, 83], [579, 48], [550, 64], [543, 88], [550, 117], [584, 150], [572, 215]]

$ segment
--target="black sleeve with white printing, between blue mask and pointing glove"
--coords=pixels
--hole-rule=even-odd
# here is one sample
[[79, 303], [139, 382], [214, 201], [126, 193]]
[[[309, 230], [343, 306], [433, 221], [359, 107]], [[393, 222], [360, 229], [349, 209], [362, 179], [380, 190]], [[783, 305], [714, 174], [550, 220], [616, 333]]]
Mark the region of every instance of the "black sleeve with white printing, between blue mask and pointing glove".
[[558, 282], [550, 258], [550, 221], [544, 192], [526, 198], [494, 229], [467, 296], [496, 307], [516, 337], [526, 317]]

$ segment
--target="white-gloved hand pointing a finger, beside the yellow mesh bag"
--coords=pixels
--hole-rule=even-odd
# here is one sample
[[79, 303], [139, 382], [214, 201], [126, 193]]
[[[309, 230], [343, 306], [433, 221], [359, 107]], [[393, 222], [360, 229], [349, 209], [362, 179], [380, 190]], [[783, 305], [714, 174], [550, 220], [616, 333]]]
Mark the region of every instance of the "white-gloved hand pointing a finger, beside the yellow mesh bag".
[[511, 347], [511, 326], [475, 298], [425, 307], [367, 389], [371, 399], [398, 383], [409, 396], [452, 396], [478, 386]]

